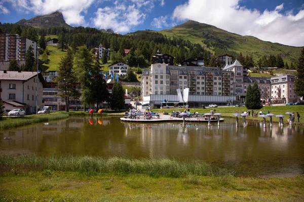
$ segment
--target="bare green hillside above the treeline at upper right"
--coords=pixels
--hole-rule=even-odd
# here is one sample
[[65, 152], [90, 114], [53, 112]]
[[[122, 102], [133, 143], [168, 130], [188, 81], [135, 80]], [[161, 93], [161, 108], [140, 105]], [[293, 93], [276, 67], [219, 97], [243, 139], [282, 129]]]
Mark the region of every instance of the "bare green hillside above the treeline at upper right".
[[280, 54], [289, 64], [295, 62], [300, 55], [301, 47], [283, 45], [263, 41], [253, 36], [241, 36], [239, 34], [227, 32], [215, 26], [187, 21], [171, 29], [165, 29], [160, 33], [168, 36], [189, 40], [192, 43], [202, 44], [207, 50], [218, 48], [225, 51], [242, 52], [243, 55], [252, 54], [254, 60], [266, 55]]

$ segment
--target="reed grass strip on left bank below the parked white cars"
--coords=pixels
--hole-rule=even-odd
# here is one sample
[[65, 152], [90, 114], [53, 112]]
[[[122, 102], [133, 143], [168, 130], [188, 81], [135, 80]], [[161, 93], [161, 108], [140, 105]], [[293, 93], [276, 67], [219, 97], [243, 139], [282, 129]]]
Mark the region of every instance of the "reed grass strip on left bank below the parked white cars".
[[68, 113], [60, 113], [60, 112], [44, 114], [44, 115], [9, 117], [0, 121], [0, 129], [16, 128], [19, 126], [25, 126], [34, 123], [66, 119], [68, 117], [69, 117]]

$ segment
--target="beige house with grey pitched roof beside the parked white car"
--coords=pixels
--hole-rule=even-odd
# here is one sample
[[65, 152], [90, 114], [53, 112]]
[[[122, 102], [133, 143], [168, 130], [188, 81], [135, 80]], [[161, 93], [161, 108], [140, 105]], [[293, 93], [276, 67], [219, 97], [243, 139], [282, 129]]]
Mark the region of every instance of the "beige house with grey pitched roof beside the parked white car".
[[26, 114], [36, 113], [36, 100], [37, 107], [43, 107], [44, 87], [47, 85], [41, 73], [38, 74], [37, 89], [37, 72], [0, 71], [0, 98], [6, 109], [23, 108]]

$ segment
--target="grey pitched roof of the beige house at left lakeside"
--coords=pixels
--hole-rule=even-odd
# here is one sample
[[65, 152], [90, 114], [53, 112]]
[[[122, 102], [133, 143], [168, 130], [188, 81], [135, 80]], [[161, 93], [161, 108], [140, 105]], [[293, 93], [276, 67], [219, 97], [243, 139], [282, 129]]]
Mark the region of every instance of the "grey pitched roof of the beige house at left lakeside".
[[[0, 81], [28, 81], [37, 76], [37, 72], [18, 72], [18, 71], [0, 71]], [[41, 73], [38, 74], [44, 88], [47, 88], [47, 83]]]

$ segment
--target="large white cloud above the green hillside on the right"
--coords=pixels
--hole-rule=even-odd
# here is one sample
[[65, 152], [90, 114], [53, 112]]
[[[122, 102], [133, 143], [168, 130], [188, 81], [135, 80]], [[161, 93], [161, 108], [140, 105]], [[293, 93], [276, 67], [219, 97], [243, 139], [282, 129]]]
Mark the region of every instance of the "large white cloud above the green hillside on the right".
[[262, 40], [279, 42], [293, 46], [304, 45], [304, 9], [296, 15], [285, 12], [284, 5], [278, 5], [273, 11], [249, 10], [240, 7], [241, 0], [188, 0], [173, 12], [173, 19], [191, 19], [211, 24], [218, 28], [252, 35]]

